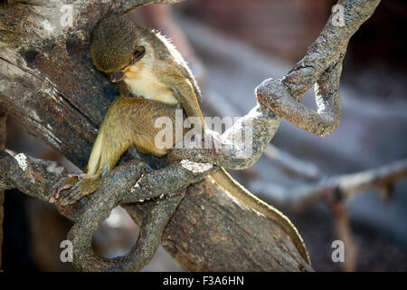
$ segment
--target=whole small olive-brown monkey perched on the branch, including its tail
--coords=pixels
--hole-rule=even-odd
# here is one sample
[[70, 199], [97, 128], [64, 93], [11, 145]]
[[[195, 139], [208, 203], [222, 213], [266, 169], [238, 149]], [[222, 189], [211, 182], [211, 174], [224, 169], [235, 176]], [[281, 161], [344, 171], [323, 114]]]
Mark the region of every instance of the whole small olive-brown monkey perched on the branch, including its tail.
[[[69, 204], [96, 191], [128, 148], [136, 147], [141, 153], [158, 157], [166, 155], [170, 149], [158, 149], [154, 142], [159, 131], [154, 124], [161, 116], [175, 123], [176, 109], [182, 108], [188, 117], [197, 117], [204, 133], [212, 135], [215, 143], [220, 142], [219, 134], [205, 125], [198, 103], [201, 92], [192, 73], [163, 35], [127, 18], [109, 16], [93, 31], [90, 58], [111, 82], [118, 82], [120, 96], [111, 103], [100, 125], [84, 174], [61, 179], [52, 189], [50, 202], [60, 199], [62, 204]], [[310, 264], [296, 227], [279, 210], [254, 197], [224, 169], [213, 172], [211, 177], [233, 197], [279, 223]], [[71, 193], [60, 195], [72, 186]]]

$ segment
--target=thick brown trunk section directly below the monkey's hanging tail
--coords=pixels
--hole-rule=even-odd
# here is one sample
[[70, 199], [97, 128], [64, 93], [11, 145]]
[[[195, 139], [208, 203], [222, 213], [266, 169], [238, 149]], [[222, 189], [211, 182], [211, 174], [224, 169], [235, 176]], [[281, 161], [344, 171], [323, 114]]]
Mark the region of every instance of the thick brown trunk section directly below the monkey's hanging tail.
[[[136, 219], [143, 214], [142, 205], [124, 208]], [[261, 230], [253, 230], [259, 227]], [[185, 236], [191, 240], [180, 243]], [[298, 263], [297, 249], [278, 224], [236, 202], [219, 187], [213, 188], [211, 179], [188, 188], [161, 245], [188, 271], [311, 270]], [[270, 256], [272, 252], [275, 254]]]

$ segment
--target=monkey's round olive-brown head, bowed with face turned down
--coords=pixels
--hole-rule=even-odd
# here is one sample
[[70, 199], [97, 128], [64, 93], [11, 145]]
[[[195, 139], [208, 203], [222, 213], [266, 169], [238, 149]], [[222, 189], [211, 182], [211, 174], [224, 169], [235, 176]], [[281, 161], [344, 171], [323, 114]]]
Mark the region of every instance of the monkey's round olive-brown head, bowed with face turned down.
[[146, 53], [142, 30], [125, 17], [109, 16], [100, 20], [90, 37], [90, 58], [96, 68], [119, 82]]

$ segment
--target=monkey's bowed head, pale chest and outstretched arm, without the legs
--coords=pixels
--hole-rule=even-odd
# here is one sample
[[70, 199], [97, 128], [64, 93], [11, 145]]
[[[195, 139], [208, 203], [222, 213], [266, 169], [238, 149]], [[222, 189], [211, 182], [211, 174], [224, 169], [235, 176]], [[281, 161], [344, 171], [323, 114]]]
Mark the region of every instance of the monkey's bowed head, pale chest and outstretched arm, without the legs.
[[190, 69], [163, 35], [111, 16], [93, 31], [90, 58], [111, 82], [118, 82], [121, 95], [178, 105], [220, 141], [219, 134], [206, 128], [198, 103], [201, 92]]

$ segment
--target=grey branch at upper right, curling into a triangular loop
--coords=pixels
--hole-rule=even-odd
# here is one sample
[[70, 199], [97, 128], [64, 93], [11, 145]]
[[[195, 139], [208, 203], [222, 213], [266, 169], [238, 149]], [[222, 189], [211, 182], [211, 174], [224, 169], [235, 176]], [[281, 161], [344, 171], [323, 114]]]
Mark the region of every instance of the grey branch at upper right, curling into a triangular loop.
[[[380, 0], [339, 0], [344, 25], [336, 24], [333, 18], [337, 15], [331, 14], [306, 56], [282, 80], [269, 79], [256, 88], [259, 102], [311, 133], [326, 136], [336, 131], [341, 114], [339, 78], [347, 43], [379, 3]], [[298, 102], [314, 84], [318, 111]]]

